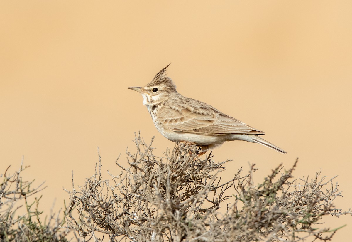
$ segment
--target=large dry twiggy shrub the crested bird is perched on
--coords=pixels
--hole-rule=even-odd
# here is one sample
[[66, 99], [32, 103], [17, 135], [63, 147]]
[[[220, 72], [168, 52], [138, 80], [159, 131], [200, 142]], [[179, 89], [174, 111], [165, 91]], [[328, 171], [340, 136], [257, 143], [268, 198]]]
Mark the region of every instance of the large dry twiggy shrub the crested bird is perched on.
[[127, 152], [128, 167], [116, 162], [118, 175], [102, 179], [99, 156], [95, 174], [66, 190], [65, 228], [84, 241], [100, 240], [96, 232], [110, 241], [138, 242], [329, 240], [337, 229], [319, 229], [323, 216], [351, 214], [332, 205], [341, 196], [333, 179], [318, 172], [294, 180], [297, 162], [289, 170], [278, 166], [254, 185], [254, 165], [222, 181], [228, 161], [216, 162], [212, 154], [201, 160], [195, 146], [176, 145], [160, 158], [139, 135], [134, 142], [137, 152]]

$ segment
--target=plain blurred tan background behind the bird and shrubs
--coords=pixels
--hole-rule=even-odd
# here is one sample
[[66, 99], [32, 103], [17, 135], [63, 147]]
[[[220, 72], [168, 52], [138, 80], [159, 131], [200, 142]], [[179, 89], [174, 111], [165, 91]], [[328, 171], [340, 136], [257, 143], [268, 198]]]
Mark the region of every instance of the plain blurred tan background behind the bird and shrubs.
[[[0, 1], [0, 172], [18, 169], [46, 181], [42, 209], [68, 199], [94, 172], [114, 172], [133, 132], [156, 154], [173, 143], [152, 124], [137, 92], [171, 62], [177, 90], [209, 103], [285, 149], [228, 142], [214, 150], [232, 159], [223, 174], [248, 162], [255, 181], [300, 158], [296, 176], [320, 168], [339, 175], [344, 198], [351, 186], [351, 1]], [[333, 241], [346, 241], [348, 224]]]

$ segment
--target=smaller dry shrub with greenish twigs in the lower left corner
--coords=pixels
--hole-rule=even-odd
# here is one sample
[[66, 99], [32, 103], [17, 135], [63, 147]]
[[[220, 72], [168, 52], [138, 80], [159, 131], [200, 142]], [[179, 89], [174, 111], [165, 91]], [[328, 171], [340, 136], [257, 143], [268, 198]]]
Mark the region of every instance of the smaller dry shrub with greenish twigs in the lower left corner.
[[33, 181], [24, 181], [23, 166], [12, 174], [0, 174], [0, 241], [1, 242], [32, 242], [50, 241], [65, 242], [67, 233], [60, 229], [65, 224], [65, 214], [62, 218], [51, 213], [48, 219], [42, 219], [42, 211], [38, 210], [39, 198], [30, 197], [42, 191], [45, 187], [40, 184], [33, 188]]

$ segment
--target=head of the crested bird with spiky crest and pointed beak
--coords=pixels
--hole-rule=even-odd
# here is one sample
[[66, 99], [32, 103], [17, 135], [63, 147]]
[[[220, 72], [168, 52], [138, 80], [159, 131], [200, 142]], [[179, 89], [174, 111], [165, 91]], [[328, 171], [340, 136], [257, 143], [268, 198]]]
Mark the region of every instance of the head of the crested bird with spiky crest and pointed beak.
[[153, 80], [144, 87], [128, 87], [128, 89], [140, 92], [143, 96], [144, 105], [154, 105], [164, 102], [170, 95], [177, 94], [175, 84], [170, 77], [165, 76], [166, 68], [168, 68], [169, 65], [162, 69]]

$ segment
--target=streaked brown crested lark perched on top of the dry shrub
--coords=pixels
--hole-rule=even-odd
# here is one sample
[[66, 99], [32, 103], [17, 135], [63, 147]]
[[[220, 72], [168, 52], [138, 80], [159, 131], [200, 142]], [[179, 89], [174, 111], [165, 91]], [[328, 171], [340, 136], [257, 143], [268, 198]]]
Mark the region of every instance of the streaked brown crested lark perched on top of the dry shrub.
[[[170, 65], [170, 64], [169, 64]], [[226, 141], [247, 141], [262, 144], [280, 153], [283, 149], [263, 139], [263, 131], [235, 119], [209, 104], [184, 97], [176, 91], [172, 79], [166, 76], [167, 65], [144, 87], [128, 87], [143, 96], [157, 130], [175, 143], [196, 145], [198, 155], [221, 146]]]

